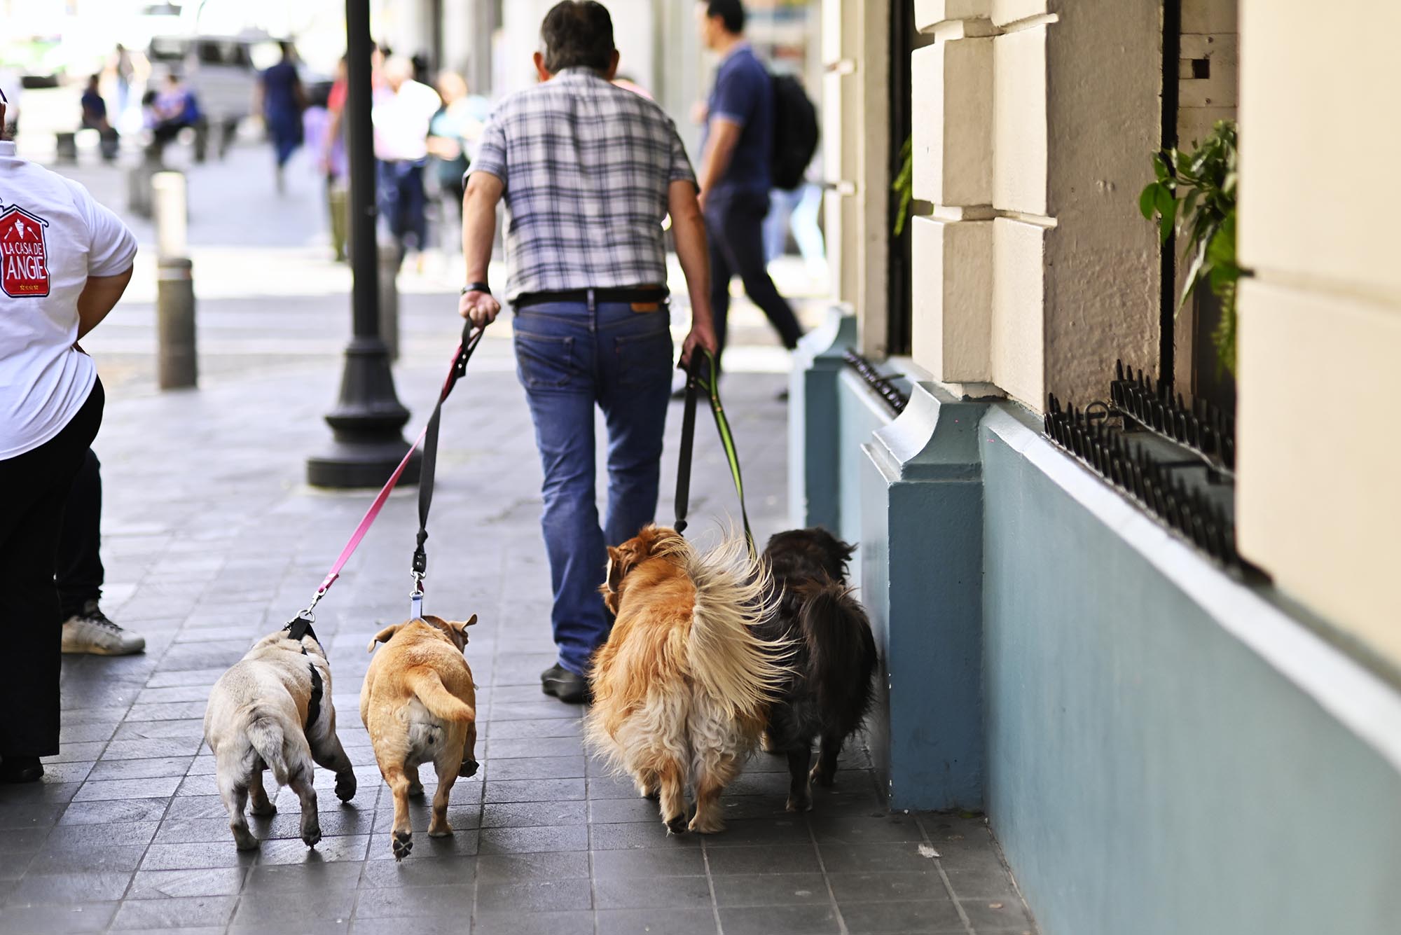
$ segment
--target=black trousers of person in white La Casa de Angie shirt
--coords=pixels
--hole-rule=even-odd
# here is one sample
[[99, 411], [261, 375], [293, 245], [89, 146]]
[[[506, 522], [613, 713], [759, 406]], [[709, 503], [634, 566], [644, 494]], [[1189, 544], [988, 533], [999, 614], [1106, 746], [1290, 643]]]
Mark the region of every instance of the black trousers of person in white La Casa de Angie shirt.
[[0, 461], [0, 757], [59, 752], [59, 592], [63, 505], [102, 423], [102, 384], [56, 437]]

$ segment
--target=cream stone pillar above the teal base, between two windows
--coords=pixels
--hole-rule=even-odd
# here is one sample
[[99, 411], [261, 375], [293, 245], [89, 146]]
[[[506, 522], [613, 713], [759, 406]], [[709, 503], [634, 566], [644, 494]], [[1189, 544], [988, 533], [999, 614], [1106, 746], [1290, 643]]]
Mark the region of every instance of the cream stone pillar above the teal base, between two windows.
[[[937, 42], [912, 60], [915, 192], [934, 203], [913, 245], [915, 360], [1037, 410], [1048, 391], [1100, 399], [1117, 358], [1157, 360], [1157, 239], [1136, 200], [1160, 137], [1160, 10], [969, 0], [919, 11], [948, 18], [919, 22]], [[957, 235], [989, 220], [991, 238]], [[958, 286], [936, 287], [933, 269]], [[967, 286], [989, 269], [991, 288]]]

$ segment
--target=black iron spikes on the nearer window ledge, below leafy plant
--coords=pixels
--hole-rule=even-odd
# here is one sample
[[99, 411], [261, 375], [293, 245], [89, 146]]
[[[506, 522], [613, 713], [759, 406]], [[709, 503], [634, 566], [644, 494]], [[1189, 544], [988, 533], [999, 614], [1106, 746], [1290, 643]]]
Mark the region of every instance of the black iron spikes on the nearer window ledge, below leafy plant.
[[1222, 565], [1258, 577], [1236, 550], [1234, 420], [1122, 361], [1115, 377], [1111, 403], [1049, 395], [1047, 435]]

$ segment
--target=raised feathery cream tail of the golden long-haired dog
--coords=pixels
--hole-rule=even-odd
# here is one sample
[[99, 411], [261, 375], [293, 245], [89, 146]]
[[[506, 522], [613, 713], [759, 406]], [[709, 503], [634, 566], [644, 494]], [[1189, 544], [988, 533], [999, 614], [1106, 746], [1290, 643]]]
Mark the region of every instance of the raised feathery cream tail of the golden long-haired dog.
[[787, 644], [755, 634], [772, 613], [768, 564], [734, 535], [703, 556], [685, 543], [682, 561], [696, 588], [686, 647], [695, 680], [726, 717], [762, 715], [789, 675]]

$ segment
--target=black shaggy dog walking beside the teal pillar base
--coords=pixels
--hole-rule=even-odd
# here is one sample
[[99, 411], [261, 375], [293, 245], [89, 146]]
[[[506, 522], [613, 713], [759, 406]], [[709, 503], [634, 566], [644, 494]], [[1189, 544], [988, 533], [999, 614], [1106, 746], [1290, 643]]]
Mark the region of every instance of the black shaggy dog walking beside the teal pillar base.
[[787, 754], [790, 812], [813, 808], [813, 740], [821, 738], [822, 747], [811, 778], [831, 785], [842, 743], [871, 704], [876, 641], [866, 610], [846, 586], [853, 551], [825, 529], [780, 532], [764, 550], [778, 613], [761, 624], [759, 635], [793, 645], [790, 673], [769, 708], [766, 732], [766, 749]]

